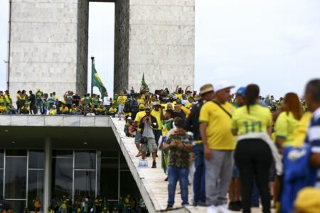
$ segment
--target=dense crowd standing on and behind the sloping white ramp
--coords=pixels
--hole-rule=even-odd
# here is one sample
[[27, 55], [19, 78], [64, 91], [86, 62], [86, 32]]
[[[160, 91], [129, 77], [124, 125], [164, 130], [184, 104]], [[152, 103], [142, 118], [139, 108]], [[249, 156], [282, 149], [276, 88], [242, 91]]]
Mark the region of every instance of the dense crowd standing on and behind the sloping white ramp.
[[260, 202], [266, 213], [320, 212], [319, 200], [305, 200], [319, 195], [320, 80], [306, 85], [304, 99], [294, 92], [262, 97], [257, 84], [235, 94], [233, 88], [220, 82], [203, 85], [200, 94], [178, 87], [127, 93], [124, 132], [135, 138], [139, 165], [151, 155], [156, 168], [161, 150], [167, 209], [179, 182], [182, 205], [191, 183], [193, 205], [210, 213], [250, 212]]

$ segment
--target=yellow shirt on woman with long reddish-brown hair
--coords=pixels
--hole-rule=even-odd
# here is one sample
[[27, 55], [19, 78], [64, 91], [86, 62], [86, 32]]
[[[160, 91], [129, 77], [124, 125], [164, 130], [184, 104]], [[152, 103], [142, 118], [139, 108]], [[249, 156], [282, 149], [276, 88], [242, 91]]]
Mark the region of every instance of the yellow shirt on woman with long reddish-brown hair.
[[275, 136], [284, 138], [283, 146], [292, 146], [294, 141], [294, 129], [299, 125], [299, 121], [294, 118], [292, 112], [287, 114], [283, 111], [279, 114], [277, 121], [274, 124]]

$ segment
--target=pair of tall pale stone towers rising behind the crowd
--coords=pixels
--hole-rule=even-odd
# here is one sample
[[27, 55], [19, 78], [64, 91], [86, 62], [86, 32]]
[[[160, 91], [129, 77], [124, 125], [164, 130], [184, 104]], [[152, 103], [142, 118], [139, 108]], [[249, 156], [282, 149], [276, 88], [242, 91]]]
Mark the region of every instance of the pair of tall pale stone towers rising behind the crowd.
[[[115, 4], [115, 93], [139, 90], [143, 73], [151, 91], [193, 88], [194, 0], [100, 2]], [[87, 92], [88, 14], [88, 0], [10, 1], [11, 94], [37, 87], [58, 97]]]

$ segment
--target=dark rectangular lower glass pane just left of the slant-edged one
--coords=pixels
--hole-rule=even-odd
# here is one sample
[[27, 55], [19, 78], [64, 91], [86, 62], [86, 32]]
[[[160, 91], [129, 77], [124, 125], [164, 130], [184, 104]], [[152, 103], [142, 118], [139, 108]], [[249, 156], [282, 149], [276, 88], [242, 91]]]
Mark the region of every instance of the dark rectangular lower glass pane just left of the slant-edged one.
[[118, 199], [118, 159], [101, 159], [100, 193], [109, 200]]

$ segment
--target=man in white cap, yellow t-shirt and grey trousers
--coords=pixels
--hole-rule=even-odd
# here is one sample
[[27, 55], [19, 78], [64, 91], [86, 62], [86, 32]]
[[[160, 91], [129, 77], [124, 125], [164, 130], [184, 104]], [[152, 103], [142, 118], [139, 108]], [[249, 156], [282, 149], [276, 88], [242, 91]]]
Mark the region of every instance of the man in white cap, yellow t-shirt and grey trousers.
[[[233, 170], [235, 138], [231, 116], [235, 107], [228, 102], [234, 86], [227, 82], [215, 85], [215, 100], [201, 107], [199, 122], [206, 163], [206, 204], [208, 212], [228, 212], [227, 192]], [[219, 182], [220, 180], [220, 182]], [[218, 184], [217, 184], [218, 183]]]

